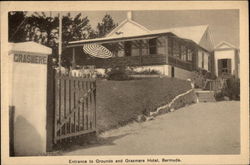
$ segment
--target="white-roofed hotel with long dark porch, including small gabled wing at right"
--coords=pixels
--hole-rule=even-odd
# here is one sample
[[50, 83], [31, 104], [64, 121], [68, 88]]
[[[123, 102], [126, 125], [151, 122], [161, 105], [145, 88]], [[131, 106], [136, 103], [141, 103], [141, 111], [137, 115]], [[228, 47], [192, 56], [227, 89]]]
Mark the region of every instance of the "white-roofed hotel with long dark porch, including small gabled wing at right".
[[[214, 52], [209, 25], [149, 30], [135, 22], [132, 13], [128, 12], [127, 18], [105, 37], [71, 41], [65, 54], [72, 55], [74, 65], [94, 65], [97, 69], [125, 63], [138, 70], [150, 68], [162, 75], [181, 79], [191, 78], [192, 72], [197, 70], [206, 70], [217, 76], [221, 71], [238, 76], [239, 62], [235, 61], [238, 50], [231, 44], [223, 43]], [[91, 44], [111, 48], [112, 58], [95, 58], [84, 52], [83, 46]], [[222, 50], [224, 53], [227, 53], [226, 50], [234, 52], [235, 55], [220, 55], [223, 54]], [[231, 60], [219, 60], [223, 58]]]

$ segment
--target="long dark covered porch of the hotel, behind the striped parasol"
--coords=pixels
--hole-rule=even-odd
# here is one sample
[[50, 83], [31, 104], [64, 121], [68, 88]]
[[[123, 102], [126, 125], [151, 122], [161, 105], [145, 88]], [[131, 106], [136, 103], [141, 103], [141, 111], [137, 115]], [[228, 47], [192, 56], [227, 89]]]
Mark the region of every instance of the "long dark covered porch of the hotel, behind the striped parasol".
[[[96, 58], [86, 54], [84, 44], [97, 43], [113, 54], [111, 58]], [[74, 65], [94, 65], [96, 68], [112, 66], [153, 66], [171, 65], [187, 71], [197, 68], [198, 46], [190, 40], [173, 34], [143, 36], [140, 38], [121, 38], [119, 40], [98, 40], [75, 43], [68, 46], [68, 57]]]

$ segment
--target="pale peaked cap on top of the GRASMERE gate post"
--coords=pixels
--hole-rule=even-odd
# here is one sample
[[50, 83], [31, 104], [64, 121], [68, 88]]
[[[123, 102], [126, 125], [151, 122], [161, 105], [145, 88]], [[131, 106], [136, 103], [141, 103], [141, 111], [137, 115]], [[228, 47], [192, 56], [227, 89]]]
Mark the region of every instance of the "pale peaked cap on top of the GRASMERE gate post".
[[9, 43], [9, 51], [11, 52], [26, 52], [35, 53], [41, 55], [52, 54], [52, 49], [44, 45], [38, 44], [33, 41], [20, 42], [20, 43]]

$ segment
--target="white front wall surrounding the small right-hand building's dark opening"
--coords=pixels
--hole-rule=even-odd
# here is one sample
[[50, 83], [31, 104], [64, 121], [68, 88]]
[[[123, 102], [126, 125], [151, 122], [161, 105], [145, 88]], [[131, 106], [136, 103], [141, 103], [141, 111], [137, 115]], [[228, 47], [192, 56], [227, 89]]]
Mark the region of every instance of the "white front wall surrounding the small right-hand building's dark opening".
[[214, 67], [215, 67], [215, 75], [218, 76], [218, 60], [220, 59], [231, 59], [231, 71], [232, 74], [236, 74], [238, 72], [238, 68], [236, 68], [235, 63], [235, 50], [215, 50], [214, 52]]

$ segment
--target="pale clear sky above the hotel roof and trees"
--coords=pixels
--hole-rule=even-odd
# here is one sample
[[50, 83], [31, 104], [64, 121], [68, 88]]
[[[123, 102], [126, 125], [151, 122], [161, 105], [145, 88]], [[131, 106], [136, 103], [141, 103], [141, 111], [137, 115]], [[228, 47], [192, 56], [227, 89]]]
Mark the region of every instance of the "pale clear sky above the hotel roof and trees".
[[[115, 23], [121, 23], [128, 11], [83, 11], [93, 28], [101, 22], [105, 14], [111, 15]], [[66, 13], [66, 12], [65, 12]], [[72, 16], [79, 12], [70, 12]], [[239, 47], [239, 10], [135, 10], [133, 21], [149, 30], [209, 25], [215, 46], [227, 41]]]

